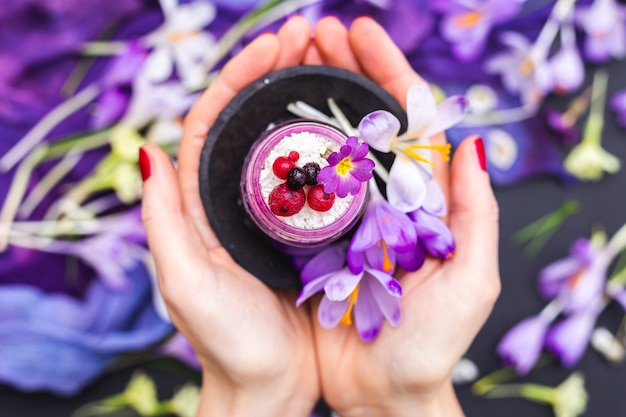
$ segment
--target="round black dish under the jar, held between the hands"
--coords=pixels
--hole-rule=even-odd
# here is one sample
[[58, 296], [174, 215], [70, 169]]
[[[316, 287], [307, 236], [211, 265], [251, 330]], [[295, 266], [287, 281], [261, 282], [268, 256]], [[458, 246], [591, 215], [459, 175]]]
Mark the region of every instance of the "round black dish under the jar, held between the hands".
[[[353, 126], [366, 114], [387, 110], [406, 126], [400, 104], [369, 79], [340, 68], [298, 66], [266, 75], [244, 88], [220, 113], [200, 158], [200, 196], [217, 238], [243, 268], [275, 288], [299, 289], [299, 274], [289, 256], [248, 217], [239, 187], [243, 162], [270, 123], [296, 116], [291, 102], [304, 101], [330, 115], [332, 97]], [[385, 155], [382, 156], [383, 163]]]

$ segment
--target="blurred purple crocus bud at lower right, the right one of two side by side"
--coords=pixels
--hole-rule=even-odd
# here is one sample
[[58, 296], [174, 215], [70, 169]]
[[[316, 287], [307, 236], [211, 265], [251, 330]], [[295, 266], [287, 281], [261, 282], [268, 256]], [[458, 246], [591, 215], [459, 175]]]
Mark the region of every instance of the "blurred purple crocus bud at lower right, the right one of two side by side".
[[564, 366], [570, 368], [582, 358], [603, 307], [601, 298], [596, 298], [595, 303], [576, 311], [554, 325], [548, 332], [546, 347]]

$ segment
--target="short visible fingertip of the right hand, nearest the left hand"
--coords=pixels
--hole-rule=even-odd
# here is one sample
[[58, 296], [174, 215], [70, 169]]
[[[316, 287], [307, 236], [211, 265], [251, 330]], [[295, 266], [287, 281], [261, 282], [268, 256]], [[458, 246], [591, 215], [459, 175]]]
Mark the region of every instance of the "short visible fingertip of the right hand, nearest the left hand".
[[350, 46], [348, 29], [336, 17], [324, 17], [317, 23], [315, 45], [324, 64], [362, 73]]

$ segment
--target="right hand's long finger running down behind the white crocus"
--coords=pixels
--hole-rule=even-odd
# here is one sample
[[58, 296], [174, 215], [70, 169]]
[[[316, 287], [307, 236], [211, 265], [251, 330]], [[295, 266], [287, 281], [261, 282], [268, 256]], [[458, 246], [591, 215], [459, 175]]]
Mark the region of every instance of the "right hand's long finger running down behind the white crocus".
[[[370, 17], [360, 17], [350, 26], [349, 40], [364, 74], [387, 90], [406, 109], [409, 88], [413, 84], [426, 81], [413, 70], [385, 29]], [[431, 137], [430, 142], [443, 145], [447, 140], [441, 133]], [[448, 197], [448, 164], [438, 152], [433, 152], [432, 157], [435, 180], [441, 186], [443, 194]]]

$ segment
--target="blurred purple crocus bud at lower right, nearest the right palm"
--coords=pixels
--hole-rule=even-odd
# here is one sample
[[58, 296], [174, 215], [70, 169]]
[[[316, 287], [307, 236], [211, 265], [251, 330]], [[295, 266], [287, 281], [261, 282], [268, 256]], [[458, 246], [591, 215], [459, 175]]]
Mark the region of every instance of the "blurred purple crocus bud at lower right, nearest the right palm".
[[500, 340], [496, 352], [507, 366], [526, 375], [537, 362], [551, 320], [545, 314], [526, 318], [512, 327]]

